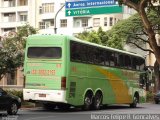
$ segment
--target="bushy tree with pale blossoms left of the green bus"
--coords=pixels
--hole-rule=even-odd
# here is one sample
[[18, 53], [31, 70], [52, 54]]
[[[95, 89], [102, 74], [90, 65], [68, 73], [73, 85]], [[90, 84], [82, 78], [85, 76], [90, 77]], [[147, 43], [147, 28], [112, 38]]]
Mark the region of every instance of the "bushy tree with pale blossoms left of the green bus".
[[6, 73], [13, 73], [23, 65], [26, 37], [35, 33], [36, 29], [26, 24], [19, 27], [17, 32], [8, 32], [1, 37], [0, 80]]

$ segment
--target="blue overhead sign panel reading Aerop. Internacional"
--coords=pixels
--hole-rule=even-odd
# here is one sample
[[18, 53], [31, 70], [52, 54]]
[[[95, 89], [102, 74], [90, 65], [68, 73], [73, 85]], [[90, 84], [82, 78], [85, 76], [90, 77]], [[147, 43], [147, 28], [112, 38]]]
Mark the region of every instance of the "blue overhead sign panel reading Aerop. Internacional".
[[65, 3], [66, 9], [98, 7], [98, 6], [103, 7], [110, 5], [116, 5], [115, 0], [80, 0], [80, 1], [74, 0]]

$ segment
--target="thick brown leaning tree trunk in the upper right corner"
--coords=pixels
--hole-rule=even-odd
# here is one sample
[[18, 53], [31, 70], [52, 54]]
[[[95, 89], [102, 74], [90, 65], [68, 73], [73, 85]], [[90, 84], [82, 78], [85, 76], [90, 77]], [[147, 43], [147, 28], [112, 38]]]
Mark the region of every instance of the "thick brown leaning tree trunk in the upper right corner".
[[[153, 50], [157, 62], [160, 64], [160, 47], [156, 42], [154, 25], [147, 15], [148, 11], [153, 10], [157, 13], [157, 19], [159, 19], [159, 11], [157, 7], [154, 6], [154, 3], [160, 2], [160, 0], [118, 0], [118, 2], [120, 5], [124, 4], [137, 11], [142, 21], [144, 31], [148, 35], [149, 45]], [[159, 5], [159, 3], [157, 4]]]

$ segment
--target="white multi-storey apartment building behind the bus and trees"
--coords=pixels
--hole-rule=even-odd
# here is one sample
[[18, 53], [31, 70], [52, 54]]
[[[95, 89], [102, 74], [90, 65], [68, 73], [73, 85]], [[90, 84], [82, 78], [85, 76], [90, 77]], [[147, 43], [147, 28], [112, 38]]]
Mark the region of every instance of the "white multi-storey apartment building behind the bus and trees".
[[[56, 28], [57, 34], [75, 35], [97, 30], [100, 26], [107, 31], [119, 20], [133, 14], [133, 10], [124, 7], [124, 13], [119, 14], [66, 17], [64, 4], [65, 0], [0, 0], [0, 36], [16, 31], [26, 23], [38, 28], [39, 33], [55, 33]], [[23, 68], [17, 69], [13, 75], [6, 75], [0, 86], [23, 88]]]

